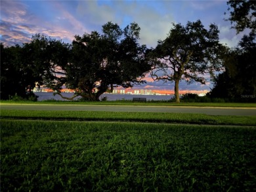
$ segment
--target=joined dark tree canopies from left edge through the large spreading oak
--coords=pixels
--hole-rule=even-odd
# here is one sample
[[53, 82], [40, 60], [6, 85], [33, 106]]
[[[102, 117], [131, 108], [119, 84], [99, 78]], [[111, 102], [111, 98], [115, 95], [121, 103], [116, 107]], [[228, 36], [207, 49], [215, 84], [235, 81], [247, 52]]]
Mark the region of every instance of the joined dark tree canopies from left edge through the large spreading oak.
[[[115, 86], [124, 88], [145, 83], [150, 66], [146, 45], [139, 44], [140, 28], [131, 23], [124, 29], [108, 22], [97, 31], [75, 35], [72, 45], [36, 34], [22, 47], [1, 45], [1, 98], [17, 93], [24, 97], [35, 82], [62, 96], [62, 88], [75, 90], [72, 100], [100, 100]], [[18, 88], [20, 90], [18, 90]]]

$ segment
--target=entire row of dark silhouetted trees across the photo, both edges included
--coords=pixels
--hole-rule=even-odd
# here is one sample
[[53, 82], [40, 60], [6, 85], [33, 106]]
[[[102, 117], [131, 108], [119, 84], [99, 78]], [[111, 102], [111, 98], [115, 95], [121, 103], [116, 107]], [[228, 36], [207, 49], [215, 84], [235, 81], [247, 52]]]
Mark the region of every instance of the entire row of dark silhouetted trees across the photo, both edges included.
[[[228, 5], [232, 28], [238, 33], [251, 29], [235, 48], [221, 45], [217, 26], [210, 24], [206, 29], [200, 20], [186, 26], [173, 24], [156, 48], [139, 44], [140, 27], [135, 22], [123, 29], [108, 22], [102, 26], [102, 33], [75, 35], [72, 44], [41, 34], [15, 47], [1, 44], [1, 100], [13, 96], [36, 100], [32, 90], [38, 82], [67, 100], [81, 96], [99, 101], [100, 95], [116, 86], [146, 83], [143, 77], [150, 73], [155, 81], [174, 81], [175, 101], [180, 102], [179, 82], [204, 84], [204, 75], [209, 73], [215, 82], [209, 97], [253, 102], [255, 1], [228, 1]], [[64, 85], [75, 90], [72, 98], [62, 95]]]

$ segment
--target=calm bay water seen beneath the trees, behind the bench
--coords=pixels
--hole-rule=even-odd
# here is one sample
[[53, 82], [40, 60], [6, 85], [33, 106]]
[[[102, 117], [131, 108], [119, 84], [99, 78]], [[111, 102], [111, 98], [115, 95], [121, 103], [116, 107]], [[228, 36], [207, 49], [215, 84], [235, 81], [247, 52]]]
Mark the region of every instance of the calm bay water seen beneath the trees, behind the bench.
[[[43, 100], [64, 100], [59, 95], [54, 96], [53, 92], [35, 92], [35, 95], [39, 96], [37, 98], [38, 101]], [[65, 97], [72, 97], [72, 92], [64, 92], [62, 93]], [[107, 97], [108, 101], [116, 101], [116, 100], [133, 100], [133, 98], [146, 98], [147, 101], [150, 100], [170, 100], [173, 98], [172, 95], [138, 95], [138, 94], [102, 94], [100, 99], [103, 97]], [[79, 97], [75, 98], [77, 100]], [[66, 100], [67, 101], [67, 100]]]

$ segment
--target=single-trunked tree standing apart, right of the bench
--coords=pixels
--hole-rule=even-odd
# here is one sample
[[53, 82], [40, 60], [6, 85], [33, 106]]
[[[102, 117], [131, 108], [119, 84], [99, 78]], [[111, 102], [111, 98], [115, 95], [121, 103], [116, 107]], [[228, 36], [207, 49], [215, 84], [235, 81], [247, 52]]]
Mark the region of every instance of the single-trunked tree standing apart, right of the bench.
[[[158, 41], [152, 50], [150, 72], [154, 80], [174, 81], [175, 99], [179, 100], [179, 82], [185, 80], [205, 83], [205, 73], [221, 67], [218, 52], [219, 30], [215, 24], [205, 29], [202, 22], [188, 22], [186, 26], [173, 24], [169, 35]], [[200, 76], [201, 75], [201, 76]]]

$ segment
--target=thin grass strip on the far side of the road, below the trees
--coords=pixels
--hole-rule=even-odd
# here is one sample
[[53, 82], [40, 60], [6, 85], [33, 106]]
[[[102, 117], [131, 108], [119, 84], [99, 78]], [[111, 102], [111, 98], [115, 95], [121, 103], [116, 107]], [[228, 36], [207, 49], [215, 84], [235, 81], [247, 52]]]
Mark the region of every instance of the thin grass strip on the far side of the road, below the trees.
[[54, 101], [45, 100], [41, 102], [28, 102], [28, 101], [5, 101], [1, 100], [0, 104], [65, 104], [65, 105], [124, 105], [124, 106], [198, 106], [198, 107], [256, 107], [256, 103], [190, 103], [181, 102], [177, 104], [169, 101], [148, 101], [148, 102], [132, 102], [130, 100], [124, 101], [106, 101], [106, 102], [70, 102], [70, 101]]

